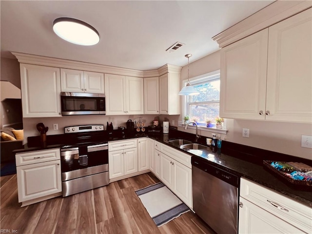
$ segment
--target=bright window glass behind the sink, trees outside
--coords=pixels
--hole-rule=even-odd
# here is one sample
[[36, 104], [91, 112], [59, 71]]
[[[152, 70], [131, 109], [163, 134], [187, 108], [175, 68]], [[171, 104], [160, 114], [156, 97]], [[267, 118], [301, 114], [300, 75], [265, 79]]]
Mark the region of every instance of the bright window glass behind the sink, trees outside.
[[215, 117], [219, 117], [220, 72], [192, 78], [190, 84], [199, 94], [185, 97], [184, 116], [188, 115], [190, 121], [196, 121], [198, 126], [205, 127], [206, 120], [210, 119], [214, 127]]

